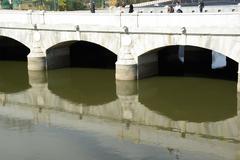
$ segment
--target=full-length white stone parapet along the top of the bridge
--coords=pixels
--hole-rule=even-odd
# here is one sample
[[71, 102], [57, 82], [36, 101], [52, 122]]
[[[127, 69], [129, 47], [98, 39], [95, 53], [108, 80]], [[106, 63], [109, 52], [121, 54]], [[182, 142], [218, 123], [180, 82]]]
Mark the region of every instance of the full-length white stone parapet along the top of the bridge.
[[[132, 28], [159, 27], [213, 27], [240, 28], [240, 13], [81, 13], [42, 11], [0, 11], [0, 27], [5, 25], [69, 25], [106, 28], [128, 26]], [[217, 29], [217, 28], [216, 28]]]

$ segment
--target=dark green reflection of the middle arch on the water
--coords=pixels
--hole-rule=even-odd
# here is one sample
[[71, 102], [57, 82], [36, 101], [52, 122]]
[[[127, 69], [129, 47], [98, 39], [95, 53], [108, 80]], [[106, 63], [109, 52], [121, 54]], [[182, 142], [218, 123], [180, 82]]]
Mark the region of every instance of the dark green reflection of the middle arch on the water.
[[65, 68], [48, 71], [49, 90], [73, 103], [102, 105], [117, 99], [114, 70]]

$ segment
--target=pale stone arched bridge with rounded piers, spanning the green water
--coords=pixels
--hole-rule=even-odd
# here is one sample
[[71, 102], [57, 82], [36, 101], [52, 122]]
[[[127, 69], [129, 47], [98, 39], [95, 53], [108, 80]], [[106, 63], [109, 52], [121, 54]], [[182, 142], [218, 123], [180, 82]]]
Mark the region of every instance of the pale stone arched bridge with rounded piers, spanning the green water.
[[240, 61], [239, 12], [91, 14], [1, 10], [0, 36], [30, 49], [29, 70], [69, 66], [70, 44], [97, 44], [117, 55], [119, 80], [156, 74], [158, 59], [152, 53], [165, 46], [201, 47]]

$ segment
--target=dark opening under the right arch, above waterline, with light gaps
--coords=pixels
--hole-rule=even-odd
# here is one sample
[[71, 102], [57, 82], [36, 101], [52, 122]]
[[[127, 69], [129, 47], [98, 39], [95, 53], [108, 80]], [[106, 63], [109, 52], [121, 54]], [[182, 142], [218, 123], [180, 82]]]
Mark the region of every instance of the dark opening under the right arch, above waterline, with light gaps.
[[[138, 76], [140, 79], [154, 75], [201, 76], [236, 81], [238, 63], [235, 60], [225, 56], [225, 66], [212, 68], [214, 58], [219, 55], [224, 59], [224, 54], [198, 46], [155, 48], [138, 57]], [[216, 63], [223, 62], [218, 59]]]

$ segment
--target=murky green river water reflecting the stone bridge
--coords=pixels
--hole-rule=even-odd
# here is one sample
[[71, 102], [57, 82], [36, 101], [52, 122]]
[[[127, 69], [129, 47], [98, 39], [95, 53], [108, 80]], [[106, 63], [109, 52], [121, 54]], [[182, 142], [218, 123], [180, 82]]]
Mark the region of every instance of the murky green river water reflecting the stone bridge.
[[22, 62], [0, 66], [1, 159], [240, 158], [234, 81], [122, 82], [107, 69], [44, 73], [28, 72]]

